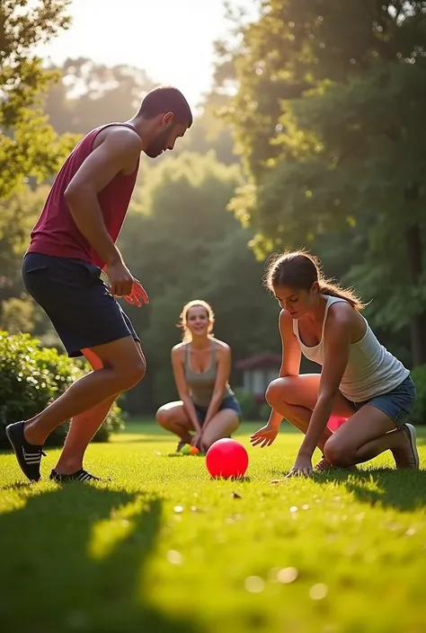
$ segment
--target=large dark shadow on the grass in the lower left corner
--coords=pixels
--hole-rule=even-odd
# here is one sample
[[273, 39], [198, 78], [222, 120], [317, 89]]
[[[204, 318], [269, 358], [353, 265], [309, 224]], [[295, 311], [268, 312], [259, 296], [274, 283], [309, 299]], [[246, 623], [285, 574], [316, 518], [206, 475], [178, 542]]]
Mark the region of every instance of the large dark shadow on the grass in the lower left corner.
[[201, 633], [144, 598], [161, 510], [156, 497], [81, 484], [17, 496], [0, 515], [2, 631]]

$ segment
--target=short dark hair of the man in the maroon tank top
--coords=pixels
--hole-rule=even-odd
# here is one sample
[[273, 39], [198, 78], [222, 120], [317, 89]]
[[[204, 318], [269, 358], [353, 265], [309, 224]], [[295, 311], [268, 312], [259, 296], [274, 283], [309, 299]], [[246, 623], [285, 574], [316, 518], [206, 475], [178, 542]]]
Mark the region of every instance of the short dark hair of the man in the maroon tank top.
[[145, 119], [154, 119], [165, 112], [173, 112], [176, 123], [191, 127], [190, 104], [182, 92], [173, 86], [159, 86], [148, 92], [140, 104], [138, 114], [141, 114]]

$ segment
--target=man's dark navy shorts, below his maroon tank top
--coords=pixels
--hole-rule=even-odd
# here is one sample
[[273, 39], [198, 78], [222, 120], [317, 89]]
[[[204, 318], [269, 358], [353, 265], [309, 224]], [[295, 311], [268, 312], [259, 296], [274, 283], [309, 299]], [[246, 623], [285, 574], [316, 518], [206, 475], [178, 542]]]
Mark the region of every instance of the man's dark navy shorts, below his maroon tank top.
[[86, 347], [129, 336], [140, 342], [101, 272], [82, 259], [32, 252], [23, 258], [23, 283], [49, 316], [68, 356], [82, 356]]

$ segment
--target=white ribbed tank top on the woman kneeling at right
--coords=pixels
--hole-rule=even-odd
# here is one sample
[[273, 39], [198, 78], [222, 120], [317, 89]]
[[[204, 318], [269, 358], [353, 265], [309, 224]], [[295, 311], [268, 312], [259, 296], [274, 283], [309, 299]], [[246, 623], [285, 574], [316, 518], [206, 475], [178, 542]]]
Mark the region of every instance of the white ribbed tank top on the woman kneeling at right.
[[[324, 329], [328, 310], [332, 303], [347, 303], [340, 297], [323, 296], [327, 303], [323, 331], [318, 345], [306, 347], [300, 340], [297, 320], [293, 321], [293, 331], [302, 354], [318, 365], [324, 365]], [[366, 333], [358, 343], [351, 343], [348, 365], [346, 365], [340, 384], [340, 391], [345, 398], [352, 402], [363, 402], [374, 396], [392, 391], [410, 375], [409, 370], [404, 367], [401, 361], [378, 342], [373, 330], [368, 325], [368, 321], [364, 317], [362, 318], [366, 322]]]

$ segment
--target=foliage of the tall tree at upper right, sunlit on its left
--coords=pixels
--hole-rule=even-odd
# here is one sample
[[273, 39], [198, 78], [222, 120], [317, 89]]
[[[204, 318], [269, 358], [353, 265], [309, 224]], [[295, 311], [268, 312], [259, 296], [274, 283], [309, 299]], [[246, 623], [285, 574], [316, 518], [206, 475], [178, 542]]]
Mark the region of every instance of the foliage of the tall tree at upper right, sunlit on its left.
[[[243, 189], [233, 208], [258, 229], [263, 251], [271, 248], [268, 241], [279, 247], [312, 242], [353, 226], [362, 214], [375, 220], [377, 210], [382, 242], [395, 222], [404, 233], [422, 208], [416, 198], [412, 213], [402, 214], [404, 192], [421, 178], [426, 160], [419, 140], [426, 134], [426, 37], [409, 26], [414, 16], [399, 23], [382, 3], [366, 11], [333, 0], [271, 0], [263, 9], [244, 31], [244, 56], [235, 60], [240, 89], [228, 114], [259, 187], [252, 195]], [[350, 26], [348, 14], [357, 21]], [[422, 22], [421, 13], [415, 17]], [[404, 41], [403, 31], [416, 39]], [[270, 38], [271, 32], [280, 37]], [[410, 46], [417, 49], [412, 57]]]

